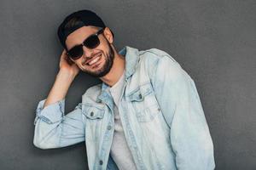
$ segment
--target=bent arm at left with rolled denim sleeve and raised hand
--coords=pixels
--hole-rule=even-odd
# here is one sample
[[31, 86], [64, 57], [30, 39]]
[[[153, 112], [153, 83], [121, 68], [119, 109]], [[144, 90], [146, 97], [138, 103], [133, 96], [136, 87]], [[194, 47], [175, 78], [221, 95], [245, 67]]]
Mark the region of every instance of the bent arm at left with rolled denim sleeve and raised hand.
[[79, 72], [77, 65], [68, 64], [66, 51], [61, 54], [60, 71], [47, 99], [41, 100], [34, 121], [33, 144], [38, 148], [58, 148], [84, 141], [81, 105], [64, 114], [65, 96]]

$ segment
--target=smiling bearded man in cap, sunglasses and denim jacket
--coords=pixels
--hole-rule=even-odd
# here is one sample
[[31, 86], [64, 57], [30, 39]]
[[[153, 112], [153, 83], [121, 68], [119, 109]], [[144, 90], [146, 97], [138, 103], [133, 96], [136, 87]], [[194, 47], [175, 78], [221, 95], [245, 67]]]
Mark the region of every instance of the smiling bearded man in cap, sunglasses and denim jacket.
[[[60, 71], [38, 104], [33, 144], [60, 148], [85, 140], [90, 169], [196, 169], [215, 167], [195, 82], [169, 54], [125, 46], [90, 10], [70, 14], [58, 30]], [[65, 96], [84, 71], [102, 84], [64, 114]]]

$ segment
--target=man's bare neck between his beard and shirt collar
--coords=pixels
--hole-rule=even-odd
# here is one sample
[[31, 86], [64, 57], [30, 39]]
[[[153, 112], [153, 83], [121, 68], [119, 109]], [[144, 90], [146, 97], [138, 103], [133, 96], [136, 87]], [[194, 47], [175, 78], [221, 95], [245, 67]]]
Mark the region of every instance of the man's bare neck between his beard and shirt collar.
[[114, 50], [113, 65], [111, 70], [104, 77], [100, 77], [102, 82], [108, 84], [112, 87], [116, 82], [119, 81], [119, 78], [122, 76], [125, 71], [125, 57], [121, 54], [116, 53]]

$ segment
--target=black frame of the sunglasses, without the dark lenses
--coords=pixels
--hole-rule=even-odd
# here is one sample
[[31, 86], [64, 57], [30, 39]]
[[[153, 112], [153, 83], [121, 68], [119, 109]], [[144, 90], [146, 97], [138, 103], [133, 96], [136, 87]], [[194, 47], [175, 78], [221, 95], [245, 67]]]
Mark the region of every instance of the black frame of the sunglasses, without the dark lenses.
[[[86, 41], [88, 41], [91, 37], [96, 37], [96, 38], [97, 38], [98, 43], [97, 43], [96, 47], [98, 47], [99, 44], [101, 43], [101, 41], [100, 41], [100, 39], [99, 39], [98, 36], [99, 36], [100, 34], [102, 34], [102, 32], [104, 31], [104, 29], [105, 29], [105, 28], [102, 28], [101, 30], [97, 31], [95, 34], [91, 34], [89, 37], [86, 37], [86, 38], [84, 39], [84, 42], [82, 42], [82, 43], [79, 44], [79, 45], [75, 45], [75, 46], [73, 47], [73, 48], [81, 48], [81, 49], [82, 49], [82, 54], [81, 54], [81, 55], [76, 56], [76, 57], [73, 57], [71, 54], [69, 54], [69, 52], [73, 49], [73, 48], [71, 48], [71, 49], [69, 49], [69, 50], [67, 51], [68, 57], [70, 57], [71, 59], [74, 59], [74, 60], [81, 58], [81, 57], [83, 56], [83, 54], [84, 54], [83, 46], [86, 47], [86, 48], [90, 48], [90, 47], [86, 46]], [[93, 47], [93, 48], [96, 48], [96, 47]], [[93, 48], [90, 48], [90, 49], [93, 49]]]

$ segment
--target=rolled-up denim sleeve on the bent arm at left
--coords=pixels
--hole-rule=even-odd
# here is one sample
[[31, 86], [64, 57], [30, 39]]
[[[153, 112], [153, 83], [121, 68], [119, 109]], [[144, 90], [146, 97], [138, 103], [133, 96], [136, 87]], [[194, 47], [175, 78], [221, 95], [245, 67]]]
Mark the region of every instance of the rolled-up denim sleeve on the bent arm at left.
[[65, 115], [65, 99], [43, 109], [45, 100], [39, 101], [36, 110], [33, 144], [41, 149], [51, 149], [84, 141], [81, 104]]

